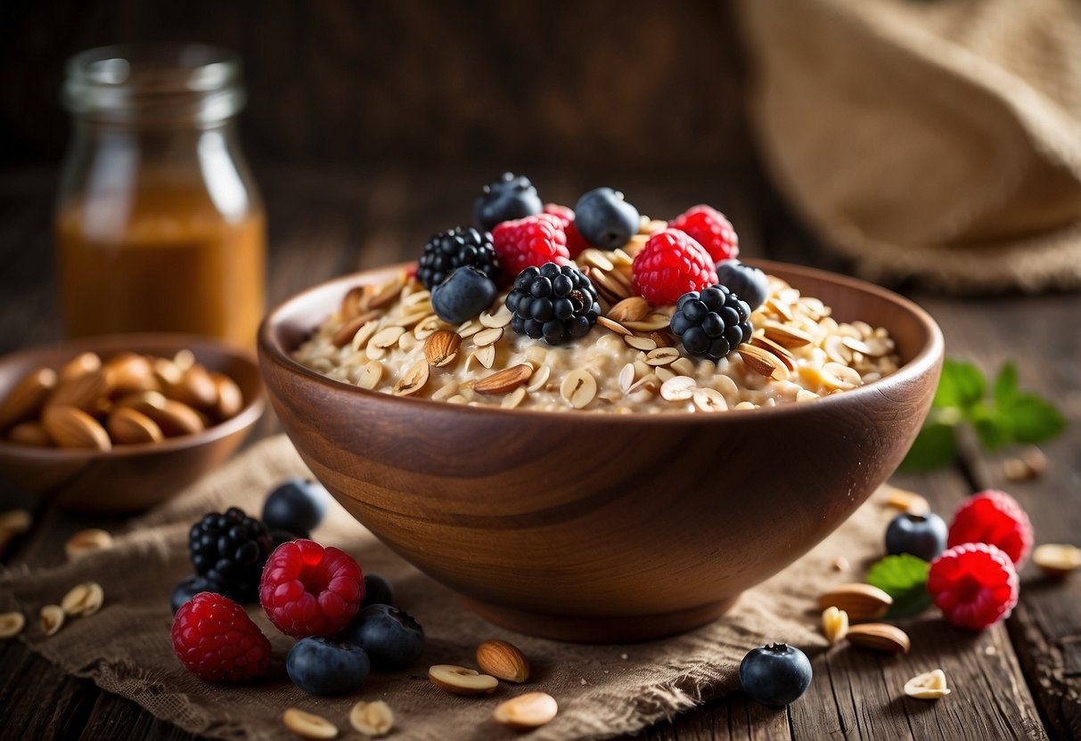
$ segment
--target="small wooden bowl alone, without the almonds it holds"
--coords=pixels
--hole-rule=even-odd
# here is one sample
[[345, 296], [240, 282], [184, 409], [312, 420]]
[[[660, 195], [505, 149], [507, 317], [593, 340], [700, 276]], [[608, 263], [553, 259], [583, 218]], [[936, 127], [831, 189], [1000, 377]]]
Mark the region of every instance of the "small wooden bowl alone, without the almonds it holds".
[[105, 452], [31, 447], [0, 440], [0, 479], [67, 510], [121, 514], [164, 501], [221, 464], [266, 407], [255, 359], [225, 342], [193, 335], [133, 334], [21, 350], [0, 358], [0, 398], [34, 369], [58, 368], [82, 352], [96, 352], [103, 359], [123, 351], [172, 358], [185, 348], [208, 370], [225, 373], [237, 382], [244, 396], [237, 416], [198, 434]]

